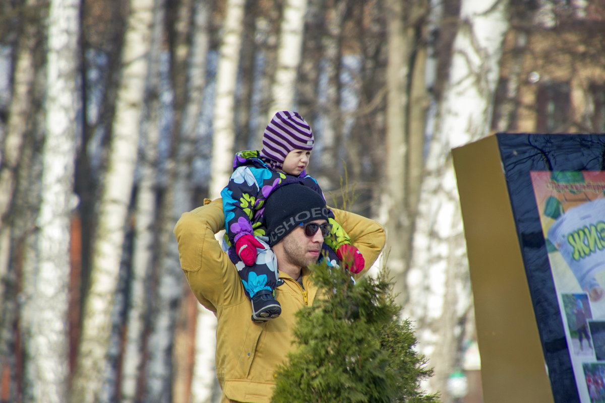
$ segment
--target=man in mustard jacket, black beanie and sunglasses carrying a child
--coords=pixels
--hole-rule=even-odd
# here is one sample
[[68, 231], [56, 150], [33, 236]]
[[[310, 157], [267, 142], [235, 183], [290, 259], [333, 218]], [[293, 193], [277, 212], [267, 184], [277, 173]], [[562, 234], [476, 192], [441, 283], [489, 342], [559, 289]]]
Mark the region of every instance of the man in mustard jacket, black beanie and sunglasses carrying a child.
[[[181, 268], [195, 297], [217, 317], [221, 402], [268, 403], [275, 386], [273, 373], [293, 349], [295, 313], [315, 300], [317, 288], [307, 266], [321, 255], [328, 210], [322, 196], [300, 184], [285, 185], [267, 199], [267, 235], [280, 276], [275, 298], [282, 313], [270, 321], [253, 322], [237, 269], [214, 237], [224, 228], [222, 206], [220, 199], [204, 201], [203, 207], [184, 213], [177, 222], [174, 234]], [[384, 230], [371, 219], [332, 211], [365, 257], [364, 271], [353, 275], [359, 277], [384, 247]]]

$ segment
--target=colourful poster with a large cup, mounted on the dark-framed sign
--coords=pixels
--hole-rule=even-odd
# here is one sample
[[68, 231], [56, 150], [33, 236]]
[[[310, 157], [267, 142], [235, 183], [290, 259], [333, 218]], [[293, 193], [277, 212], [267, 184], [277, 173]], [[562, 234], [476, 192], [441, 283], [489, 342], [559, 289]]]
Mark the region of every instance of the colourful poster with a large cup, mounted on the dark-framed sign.
[[587, 402], [584, 365], [605, 360], [605, 171], [530, 175], [578, 393]]

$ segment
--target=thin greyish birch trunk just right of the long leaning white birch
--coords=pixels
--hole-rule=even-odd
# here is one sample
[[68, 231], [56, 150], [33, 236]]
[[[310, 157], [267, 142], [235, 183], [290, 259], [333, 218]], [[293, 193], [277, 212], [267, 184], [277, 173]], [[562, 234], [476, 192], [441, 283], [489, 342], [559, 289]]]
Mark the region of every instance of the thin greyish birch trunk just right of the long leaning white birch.
[[134, 247], [132, 250], [131, 290], [128, 301], [128, 328], [126, 344], [122, 357], [121, 398], [123, 403], [134, 403], [140, 399], [137, 389], [145, 373], [143, 365], [143, 337], [145, 317], [149, 312], [149, 278], [155, 248], [155, 189], [157, 188], [158, 143], [160, 141], [159, 91], [160, 91], [160, 54], [164, 35], [165, 4], [156, 0], [154, 24], [152, 28], [152, 46], [149, 53], [148, 89], [146, 105], [148, 112], [142, 121], [141, 152], [143, 159], [139, 165], [140, 179], [135, 201]]

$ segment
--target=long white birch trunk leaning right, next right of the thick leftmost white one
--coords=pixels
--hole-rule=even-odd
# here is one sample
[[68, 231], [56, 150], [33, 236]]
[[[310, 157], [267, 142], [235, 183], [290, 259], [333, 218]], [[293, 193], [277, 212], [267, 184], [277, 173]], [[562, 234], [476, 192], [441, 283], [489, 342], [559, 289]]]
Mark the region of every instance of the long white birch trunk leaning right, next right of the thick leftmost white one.
[[111, 306], [119, 278], [125, 222], [139, 143], [153, 21], [152, 0], [132, 0], [122, 53], [109, 161], [100, 199], [93, 247], [90, 288], [85, 296], [82, 334], [71, 399], [93, 403], [99, 398], [111, 335]]

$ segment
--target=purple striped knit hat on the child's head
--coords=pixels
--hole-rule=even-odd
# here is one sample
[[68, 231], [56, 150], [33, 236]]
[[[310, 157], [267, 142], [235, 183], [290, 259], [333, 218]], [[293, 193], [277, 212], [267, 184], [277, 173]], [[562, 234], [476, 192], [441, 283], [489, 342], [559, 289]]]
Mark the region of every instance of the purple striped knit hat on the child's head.
[[273, 161], [281, 168], [292, 150], [312, 150], [313, 132], [298, 112], [277, 112], [263, 134], [261, 158]]

